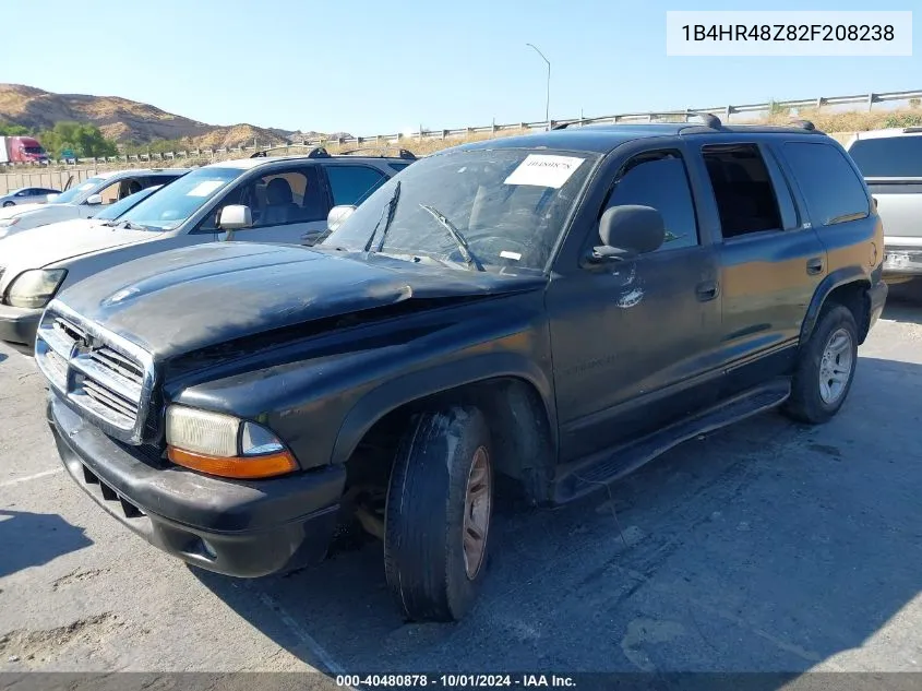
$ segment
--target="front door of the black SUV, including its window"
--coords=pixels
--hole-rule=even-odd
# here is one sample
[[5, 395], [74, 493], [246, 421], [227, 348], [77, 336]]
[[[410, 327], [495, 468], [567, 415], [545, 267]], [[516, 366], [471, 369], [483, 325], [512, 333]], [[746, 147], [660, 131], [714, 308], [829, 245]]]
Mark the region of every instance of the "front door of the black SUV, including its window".
[[[660, 212], [667, 240], [626, 261], [585, 264], [547, 294], [561, 462], [575, 461], [706, 407], [720, 335], [718, 265], [699, 241], [683, 153], [648, 151], [621, 166], [603, 209]], [[584, 254], [600, 245], [598, 222]], [[710, 356], [710, 357], [709, 357]]]

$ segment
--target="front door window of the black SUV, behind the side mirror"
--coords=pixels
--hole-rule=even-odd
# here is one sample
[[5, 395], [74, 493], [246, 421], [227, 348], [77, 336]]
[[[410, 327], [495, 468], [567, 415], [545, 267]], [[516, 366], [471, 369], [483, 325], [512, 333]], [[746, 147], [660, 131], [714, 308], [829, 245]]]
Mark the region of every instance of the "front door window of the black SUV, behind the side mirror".
[[642, 154], [625, 164], [606, 209], [630, 204], [651, 206], [662, 214], [666, 241], [658, 251], [698, 243], [695, 204], [678, 152]]

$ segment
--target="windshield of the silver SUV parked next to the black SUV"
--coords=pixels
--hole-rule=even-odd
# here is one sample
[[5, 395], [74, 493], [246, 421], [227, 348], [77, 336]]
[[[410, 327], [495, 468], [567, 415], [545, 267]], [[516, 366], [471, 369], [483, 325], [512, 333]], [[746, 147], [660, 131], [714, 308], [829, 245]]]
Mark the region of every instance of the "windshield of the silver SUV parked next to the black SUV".
[[199, 168], [145, 199], [119, 221], [128, 221], [139, 229], [172, 230], [243, 172], [240, 168], [221, 166]]

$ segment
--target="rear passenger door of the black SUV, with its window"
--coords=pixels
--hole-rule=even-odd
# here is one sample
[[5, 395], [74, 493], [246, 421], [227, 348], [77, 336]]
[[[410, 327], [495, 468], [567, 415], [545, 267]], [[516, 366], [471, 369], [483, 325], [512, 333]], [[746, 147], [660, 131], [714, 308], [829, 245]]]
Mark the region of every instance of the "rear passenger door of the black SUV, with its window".
[[768, 146], [723, 143], [704, 145], [701, 153], [721, 237], [726, 396], [789, 372], [827, 257]]

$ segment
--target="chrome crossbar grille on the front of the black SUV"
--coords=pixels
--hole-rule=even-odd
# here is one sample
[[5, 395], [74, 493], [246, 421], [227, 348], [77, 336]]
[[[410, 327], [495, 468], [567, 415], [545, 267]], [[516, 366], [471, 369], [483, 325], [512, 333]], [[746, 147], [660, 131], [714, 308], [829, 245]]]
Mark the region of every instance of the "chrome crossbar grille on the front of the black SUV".
[[35, 359], [51, 388], [87, 419], [141, 443], [154, 383], [148, 353], [52, 301], [38, 326]]

